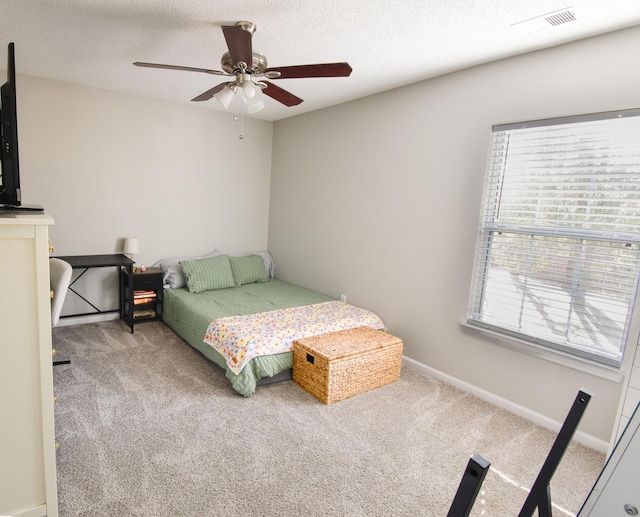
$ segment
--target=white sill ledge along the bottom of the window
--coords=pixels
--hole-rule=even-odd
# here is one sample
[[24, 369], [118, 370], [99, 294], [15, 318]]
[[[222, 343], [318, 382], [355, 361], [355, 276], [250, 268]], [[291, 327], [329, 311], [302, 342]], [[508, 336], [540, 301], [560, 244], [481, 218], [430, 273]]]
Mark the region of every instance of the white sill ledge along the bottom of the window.
[[485, 336], [490, 336], [492, 338], [492, 342], [496, 344], [505, 346], [517, 352], [522, 352], [524, 354], [537, 357], [538, 359], [543, 359], [545, 361], [550, 361], [552, 363], [566, 366], [568, 368], [573, 368], [574, 370], [588, 373], [590, 375], [594, 375], [596, 377], [607, 379], [613, 382], [620, 382], [622, 381], [622, 379], [624, 379], [624, 373], [619, 368], [616, 368], [614, 366], [607, 366], [605, 364], [589, 361], [588, 359], [572, 356], [559, 350], [553, 350], [541, 345], [536, 345], [535, 343], [529, 343], [528, 341], [524, 341], [512, 336], [507, 336], [494, 330], [486, 329], [477, 325], [472, 325], [471, 323], [468, 323], [466, 321], [461, 323], [460, 326], [463, 327], [463, 329], [470, 329], [473, 332], [478, 332]]

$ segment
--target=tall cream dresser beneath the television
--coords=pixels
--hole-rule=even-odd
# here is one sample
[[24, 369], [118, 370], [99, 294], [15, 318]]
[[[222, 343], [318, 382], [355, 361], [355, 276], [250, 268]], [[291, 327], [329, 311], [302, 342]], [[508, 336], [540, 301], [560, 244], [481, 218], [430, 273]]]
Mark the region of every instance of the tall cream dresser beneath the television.
[[0, 213], [0, 515], [57, 517], [46, 214]]

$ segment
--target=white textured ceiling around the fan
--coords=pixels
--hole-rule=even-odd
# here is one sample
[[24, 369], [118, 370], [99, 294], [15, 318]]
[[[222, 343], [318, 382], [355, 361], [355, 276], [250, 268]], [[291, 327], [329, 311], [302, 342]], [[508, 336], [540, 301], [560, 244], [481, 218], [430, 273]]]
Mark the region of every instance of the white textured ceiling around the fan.
[[[553, 26], [539, 18], [565, 10], [576, 20]], [[640, 1], [0, 0], [0, 34], [16, 44], [18, 74], [218, 111], [215, 99], [190, 99], [227, 78], [132, 63], [220, 70], [227, 50], [220, 27], [240, 20], [256, 24], [253, 48], [269, 66], [347, 61], [353, 67], [348, 78], [274, 81], [304, 99], [288, 108], [267, 98], [253, 115], [278, 120], [639, 25]]]

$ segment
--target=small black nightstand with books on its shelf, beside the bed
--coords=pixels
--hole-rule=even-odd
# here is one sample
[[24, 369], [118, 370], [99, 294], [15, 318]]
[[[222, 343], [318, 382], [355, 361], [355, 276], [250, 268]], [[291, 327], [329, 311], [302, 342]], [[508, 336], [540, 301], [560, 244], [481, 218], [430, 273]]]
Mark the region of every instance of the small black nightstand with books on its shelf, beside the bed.
[[162, 270], [156, 267], [133, 274], [120, 270], [120, 317], [132, 334], [134, 325], [162, 318], [162, 277]]

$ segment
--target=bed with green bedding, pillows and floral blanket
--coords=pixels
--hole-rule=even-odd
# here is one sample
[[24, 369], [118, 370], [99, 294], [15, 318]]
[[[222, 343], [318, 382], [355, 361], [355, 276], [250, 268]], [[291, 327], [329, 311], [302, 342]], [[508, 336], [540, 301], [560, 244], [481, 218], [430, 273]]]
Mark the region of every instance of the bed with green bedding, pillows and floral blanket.
[[[202, 257], [164, 259], [155, 266], [164, 271], [164, 322], [222, 368], [233, 389], [245, 397], [251, 396], [260, 384], [291, 378], [292, 337], [362, 325], [384, 328], [380, 318], [370, 311], [274, 278], [273, 260], [267, 252], [230, 256], [214, 250]], [[291, 331], [288, 320], [292, 321]], [[233, 332], [232, 341], [227, 334]], [[287, 348], [286, 338], [275, 340], [260, 334], [262, 340], [284, 348], [274, 346], [274, 352], [246, 357], [243, 364], [234, 364], [238, 356], [245, 359], [238, 342], [245, 341], [248, 334], [258, 342], [259, 332], [286, 334], [289, 350], [279, 351]], [[227, 339], [226, 348], [221, 337]]]

